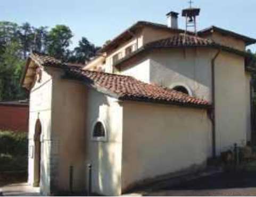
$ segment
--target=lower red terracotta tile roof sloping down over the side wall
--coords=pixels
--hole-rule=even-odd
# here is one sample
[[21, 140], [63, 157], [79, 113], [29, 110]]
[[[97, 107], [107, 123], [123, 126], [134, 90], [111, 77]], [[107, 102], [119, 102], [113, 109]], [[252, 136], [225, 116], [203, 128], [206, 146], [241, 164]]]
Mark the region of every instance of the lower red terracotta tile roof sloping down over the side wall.
[[81, 80], [84, 79], [98, 91], [114, 96], [119, 100], [197, 107], [209, 106], [209, 103], [205, 100], [188, 96], [166, 87], [143, 83], [130, 76], [113, 75], [77, 68], [70, 68], [68, 76]]

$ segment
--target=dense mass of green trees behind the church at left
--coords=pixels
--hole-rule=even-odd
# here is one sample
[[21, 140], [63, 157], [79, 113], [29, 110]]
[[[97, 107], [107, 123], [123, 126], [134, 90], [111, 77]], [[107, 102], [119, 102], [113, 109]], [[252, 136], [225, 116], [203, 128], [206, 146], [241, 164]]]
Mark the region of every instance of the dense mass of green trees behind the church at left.
[[0, 101], [28, 98], [20, 87], [22, 70], [32, 51], [46, 53], [63, 61], [85, 64], [99, 49], [85, 37], [71, 50], [73, 33], [68, 26], [35, 28], [29, 23], [18, 25], [0, 21]]

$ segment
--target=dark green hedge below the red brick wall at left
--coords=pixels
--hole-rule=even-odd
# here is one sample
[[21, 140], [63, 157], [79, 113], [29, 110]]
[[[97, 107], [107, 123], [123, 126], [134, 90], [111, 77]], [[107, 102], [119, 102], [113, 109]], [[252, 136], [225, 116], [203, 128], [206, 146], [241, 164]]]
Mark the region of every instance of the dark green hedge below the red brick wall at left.
[[0, 132], [0, 172], [27, 171], [27, 133]]

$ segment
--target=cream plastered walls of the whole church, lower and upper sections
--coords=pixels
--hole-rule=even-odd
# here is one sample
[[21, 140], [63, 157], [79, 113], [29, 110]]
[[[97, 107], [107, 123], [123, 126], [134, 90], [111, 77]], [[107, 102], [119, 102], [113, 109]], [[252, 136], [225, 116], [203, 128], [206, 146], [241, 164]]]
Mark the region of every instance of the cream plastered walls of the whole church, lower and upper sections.
[[[174, 34], [144, 28], [136, 38], [120, 43], [108, 57], [98, 58], [90, 66], [93, 70], [100, 64], [107, 73], [145, 83], [184, 86], [194, 97], [210, 103], [214, 85], [217, 155], [235, 143], [244, 146], [251, 140], [251, 77], [245, 71], [244, 57], [221, 51], [214, 64], [215, 84], [212, 59], [217, 50], [211, 48], [147, 51], [120, 65], [118, 71], [113, 68], [113, 57], [125, 55], [127, 47], [136, 44], [142, 48]], [[39, 120], [42, 194], [68, 192], [71, 166], [74, 191], [86, 190], [87, 165], [92, 164], [93, 192], [118, 196], [141, 183], [201, 171], [212, 157], [212, 122], [206, 109], [121, 102], [87, 84], [62, 78], [62, 69], [41, 69], [42, 81], [30, 90], [28, 182], [35, 184], [35, 127]], [[97, 121], [106, 131], [103, 140], [92, 135]]]

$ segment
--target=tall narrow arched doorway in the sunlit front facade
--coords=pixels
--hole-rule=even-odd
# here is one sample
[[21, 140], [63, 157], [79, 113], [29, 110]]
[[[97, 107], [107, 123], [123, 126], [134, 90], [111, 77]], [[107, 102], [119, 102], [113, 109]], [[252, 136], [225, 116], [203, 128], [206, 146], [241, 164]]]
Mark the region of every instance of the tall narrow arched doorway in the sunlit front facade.
[[42, 144], [41, 144], [41, 135], [42, 135], [42, 124], [39, 119], [36, 121], [35, 128], [35, 157], [34, 157], [34, 187], [40, 186], [40, 176], [41, 176], [41, 159], [42, 159]]

